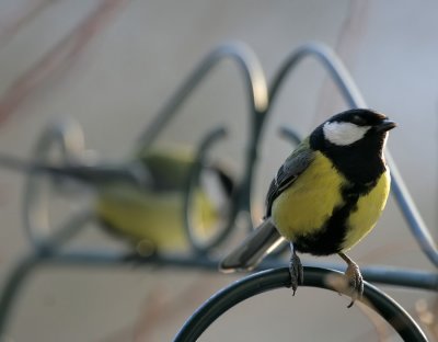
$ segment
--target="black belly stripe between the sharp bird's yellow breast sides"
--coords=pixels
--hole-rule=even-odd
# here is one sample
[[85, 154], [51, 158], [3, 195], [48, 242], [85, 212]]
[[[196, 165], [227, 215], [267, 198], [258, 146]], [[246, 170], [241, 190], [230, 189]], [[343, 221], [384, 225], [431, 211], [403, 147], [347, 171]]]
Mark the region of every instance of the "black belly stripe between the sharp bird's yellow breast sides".
[[330, 255], [343, 250], [349, 215], [357, 210], [357, 201], [371, 191], [377, 182], [367, 185], [349, 185], [342, 189], [344, 204], [333, 210], [333, 215], [318, 232], [300, 236], [295, 239], [293, 248], [301, 253]]

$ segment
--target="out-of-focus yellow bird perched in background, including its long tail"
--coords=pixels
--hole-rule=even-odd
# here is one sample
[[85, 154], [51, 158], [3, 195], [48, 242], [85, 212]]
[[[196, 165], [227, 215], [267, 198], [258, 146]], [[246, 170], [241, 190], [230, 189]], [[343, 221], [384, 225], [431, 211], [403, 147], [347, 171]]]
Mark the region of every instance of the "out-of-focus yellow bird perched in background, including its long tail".
[[[181, 147], [146, 149], [126, 163], [92, 166], [53, 166], [0, 153], [1, 168], [50, 175], [58, 187], [65, 181], [76, 181], [92, 190], [97, 220], [143, 255], [189, 250], [184, 210], [195, 163], [195, 151]], [[233, 190], [234, 182], [222, 166], [203, 164], [187, 206], [198, 244], [214, 239], [228, 225]]]

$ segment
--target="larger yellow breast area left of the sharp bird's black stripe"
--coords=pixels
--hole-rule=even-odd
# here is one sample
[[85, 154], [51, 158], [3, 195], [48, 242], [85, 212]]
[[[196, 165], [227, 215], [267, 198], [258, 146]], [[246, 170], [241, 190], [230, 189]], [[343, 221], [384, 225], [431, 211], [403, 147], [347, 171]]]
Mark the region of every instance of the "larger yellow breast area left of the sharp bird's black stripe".
[[273, 203], [273, 219], [278, 231], [288, 240], [312, 235], [343, 204], [339, 189], [345, 183], [333, 163], [321, 152]]

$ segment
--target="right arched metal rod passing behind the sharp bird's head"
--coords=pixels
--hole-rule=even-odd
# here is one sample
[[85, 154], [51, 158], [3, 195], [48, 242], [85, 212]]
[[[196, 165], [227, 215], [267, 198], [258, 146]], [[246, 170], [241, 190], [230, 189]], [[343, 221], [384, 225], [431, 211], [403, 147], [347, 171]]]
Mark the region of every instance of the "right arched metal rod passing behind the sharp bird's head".
[[[330, 76], [338, 87], [345, 101], [351, 107], [367, 107], [367, 104], [361, 95], [358, 87], [353, 80], [350, 73], [336, 56], [336, 54], [325, 45], [322, 44], [307, 44], [298, 49], [293, 50], [291, 55], [285, 60], [277, 73], [275, 75], [273, 82], [269, 87], [270, 105], [278, 93], [278, 89], [281, 86], [286, 76], [297, 67], [298, 62], [304, 57], [315, 57], [322, 66], [328, 71]], [[267, 113], [268, 115], [268, 113]], [[267, 115], [265, 117], [267, 117]], [[407, 221], [412, 233], [417, 240], [420, 249], [430, 260], [430, 262], [438, 267], [438, 247], [434, 242], [430, 235], [430, 230], [427, 228], [425, 221], [422, 218], [412, 196], [400, 174], [399, 168], [396, 167], [391, 153], [385, 150], [387, 162], [391, 169], [392, 186], [391, 192], [394, 195], [399, 207]]]

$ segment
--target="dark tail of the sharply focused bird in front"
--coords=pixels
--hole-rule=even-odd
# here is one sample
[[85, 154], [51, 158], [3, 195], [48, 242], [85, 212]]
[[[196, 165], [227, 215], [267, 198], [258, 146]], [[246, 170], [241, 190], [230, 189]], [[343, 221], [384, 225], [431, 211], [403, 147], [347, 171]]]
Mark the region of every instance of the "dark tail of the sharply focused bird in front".
[[222, 272], [252, 270], [284, 238], [272, 220], [266, 219], [221, 261], [219, 269]]

